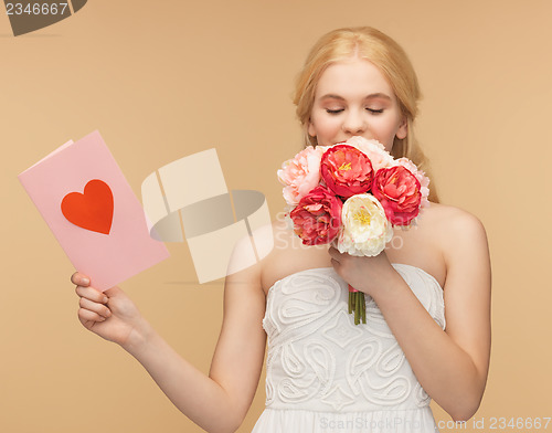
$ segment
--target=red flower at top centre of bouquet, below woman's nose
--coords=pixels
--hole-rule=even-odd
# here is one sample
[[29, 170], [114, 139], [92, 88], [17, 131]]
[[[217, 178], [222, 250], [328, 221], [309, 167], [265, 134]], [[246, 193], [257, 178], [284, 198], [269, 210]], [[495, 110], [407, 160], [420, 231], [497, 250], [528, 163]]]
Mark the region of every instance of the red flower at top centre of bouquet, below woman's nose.
[[320, 176], [337, 196], [348, 199], [367, 192], [373, 179], [370, 158], [349, 145], [336, 145], [322, 155]]

